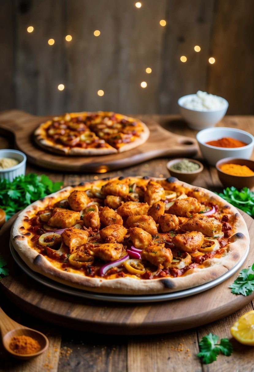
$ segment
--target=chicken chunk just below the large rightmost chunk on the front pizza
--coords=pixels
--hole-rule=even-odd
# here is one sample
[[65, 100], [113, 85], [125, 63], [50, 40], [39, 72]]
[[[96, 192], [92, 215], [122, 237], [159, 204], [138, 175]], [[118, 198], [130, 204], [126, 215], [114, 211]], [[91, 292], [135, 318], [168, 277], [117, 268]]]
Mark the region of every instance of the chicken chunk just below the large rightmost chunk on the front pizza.
[[177, 234], [172, 237], [172, 243], [175, 247], [187, 253], [196, 252], [204, 243], [204, 235], [199, 231], [186, 232]]

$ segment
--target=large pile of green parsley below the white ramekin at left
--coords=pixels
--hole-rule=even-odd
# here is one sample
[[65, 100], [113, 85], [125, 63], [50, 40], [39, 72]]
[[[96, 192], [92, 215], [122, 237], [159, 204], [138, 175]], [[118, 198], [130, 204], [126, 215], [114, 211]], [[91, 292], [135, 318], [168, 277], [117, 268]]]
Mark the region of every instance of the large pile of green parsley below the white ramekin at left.
[[6, 213], [6, 221], [32, 202], [58, 191], [63, 182], [52, 182], [45, 174], [30, 173], [18, 176], [12, 182], [0, 180], [0, 208]]

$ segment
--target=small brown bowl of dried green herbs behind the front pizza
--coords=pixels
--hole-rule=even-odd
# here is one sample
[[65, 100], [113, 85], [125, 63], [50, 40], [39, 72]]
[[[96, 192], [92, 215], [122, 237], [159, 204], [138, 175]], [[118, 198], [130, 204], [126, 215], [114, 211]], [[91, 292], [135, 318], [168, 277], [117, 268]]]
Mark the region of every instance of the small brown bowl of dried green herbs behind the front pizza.
[[171, 176], [177, 177], [178, 180], [187, 183], [192, 183], [204, 169], [200, 161], [187, 158], [170, 160], [166, 164], [166, 167]]

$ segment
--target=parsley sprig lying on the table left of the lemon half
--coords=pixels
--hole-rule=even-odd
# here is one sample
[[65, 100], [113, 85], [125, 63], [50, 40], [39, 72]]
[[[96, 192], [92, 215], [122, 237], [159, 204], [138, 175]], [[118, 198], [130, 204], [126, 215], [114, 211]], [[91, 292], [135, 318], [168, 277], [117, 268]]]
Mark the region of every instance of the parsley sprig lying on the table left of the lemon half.
[[230, 356], [233, 352], [233, 346], [228, 339], [221, 339], [218, 344], [219, 337], [216, 334], [209, 333], [204, 336], [199, 342], [200, 352], [198, 357], [202, 358], [203, 363], [209, 364], [217, 359], [219, 353]]

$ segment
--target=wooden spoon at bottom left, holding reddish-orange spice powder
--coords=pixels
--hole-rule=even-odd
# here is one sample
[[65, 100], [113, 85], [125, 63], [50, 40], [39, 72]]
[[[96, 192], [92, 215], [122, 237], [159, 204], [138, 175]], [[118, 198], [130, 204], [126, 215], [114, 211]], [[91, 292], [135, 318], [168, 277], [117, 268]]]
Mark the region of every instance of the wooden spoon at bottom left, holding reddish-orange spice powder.
[[[8, 315], [5, 314], [5, 312], [0, 308], [0, 328], [1, 328], [1, 335], [2, 335], [2, 341], [3, 346], [9, 352], [12, 354], [12, 356], [18, 358], [18, 359], [30, 359], [35, 356], [40, 355], [48, 348], [48, 339], [47, 337], [41, 333], [38, 332], [32, 328], [24, 327], [23, 325], [15, 322], [11, 318], [8, 317]], [[38, 341], [41, 348], [33, 354], [18, 354], [15, 353], [12, 349], [10, 349], [10, 341], [12, 337], [15, 336], [29, 336], [32, 337], [32, 339]]]

